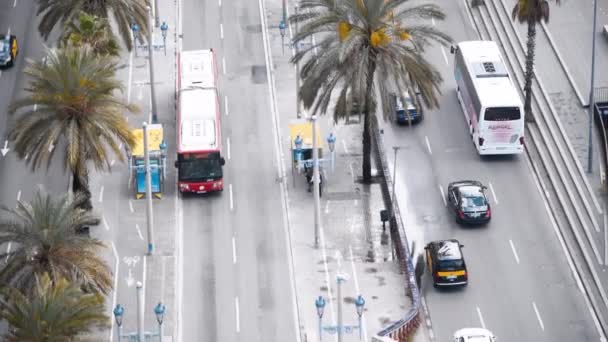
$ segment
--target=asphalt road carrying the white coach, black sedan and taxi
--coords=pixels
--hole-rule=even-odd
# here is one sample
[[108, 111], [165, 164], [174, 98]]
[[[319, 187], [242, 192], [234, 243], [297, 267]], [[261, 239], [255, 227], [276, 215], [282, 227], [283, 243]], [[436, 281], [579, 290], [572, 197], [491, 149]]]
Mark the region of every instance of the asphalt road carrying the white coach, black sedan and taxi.
[[[436, 23], [440, 29], [457, 42], [477, 39], [462, 1], [440, 5], [448, 13]], [[423, 279], [437, 340], [448, 340], [462, 327], [485, 326], [505, 341], [599, 341], [526, 156], [480, 158], [456, 98], [449, 48], [432, 48], [428, 58], [445, 80], [441, 109], [427, 111], [417, 127], [385, 123], [384, 136], [388, 150], [404, 146], [397, 197], [417, 252], [437, 239], [457, 238], [465, 245], [467, 288], [441, 291], [428, 273]], [[459, 179], [489, 187], [488, 226], [462, 228], [448, 213], [445, 189]]]

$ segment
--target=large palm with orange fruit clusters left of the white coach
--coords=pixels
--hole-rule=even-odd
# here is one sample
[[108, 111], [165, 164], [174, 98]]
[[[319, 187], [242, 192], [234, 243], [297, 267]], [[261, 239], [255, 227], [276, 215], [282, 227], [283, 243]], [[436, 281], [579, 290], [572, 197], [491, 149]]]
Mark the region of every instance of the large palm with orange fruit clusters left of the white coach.
[[[363, 180], [371, 180], [371, 130], [375, 94], [384, 116], [390, 109], [389, 92], [418, 87], [429, 108], [439, 106], [443, 82], [439, 72], [423, 57], [431, 42], [448, 44], [448, 35], [421, 19], [443, 20], [435, 5], [404, 7], [409, 0], [302, 0], [294, 44], [321, 34], [320, 41], [292, 58], [304, 61], [300, 97], [312, 114], [327, 112], [334, 90], [339, 91], [334, 120], [350, 115], [349, 104], [363, 108]], [[313, 55], [315, 49], [319, 54]]]

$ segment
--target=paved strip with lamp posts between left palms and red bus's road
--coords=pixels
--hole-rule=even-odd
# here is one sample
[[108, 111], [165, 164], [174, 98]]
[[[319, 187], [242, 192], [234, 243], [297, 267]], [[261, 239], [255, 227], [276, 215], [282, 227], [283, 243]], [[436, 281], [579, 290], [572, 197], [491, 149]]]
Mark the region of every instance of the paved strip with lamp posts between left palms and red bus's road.
[[[163, 320], [163, 341], [173, 341], [177, 319], [176, 294], [176, 189], [175, 169], [175, 51], [177, 39], [177, 2], [159, 1], [160, 23], [169, 25], [166, 55], [159, 28], [154, 28], [154, 51], [156, 102], [158, 121], [163, 125], [164, 140], [168, 145], [167, 178], [161, 200], [153, 200], [154, 210], [154, 254], [147, 256], [146, 203], [136, 200], [129, 184], [128, 164], [116, 159], [112, 162], [112, 173], [91, 173], [91, 192], [94, 209], [102, 215], [102, 224], [91, 230], [93, 237], [108, 245], [104, 256], [115, 276], [114, 293], [107, 301], [107, 314], [112, 326], [104, 333], [104, 340], [116, 341], [117, 327], [112, 314], [116, 304], [125, 308], [123, 333], [136, 331], [136, 288], [143, 283], [145, 330], [156, 332], [158, 324], [154, 306], [162, 302], [166, 307]], [[140, 128], [144, 121], [151, 122], [150, 78], [147, 46], [123, 53], [120, 64], [126, 67], [117, 77], [124, 84], [124, 99], [136, 104], [139, 114], [125, 114], [131, 128]], [[110, 334], [112, 337], [110, 339]], [[100, 339], [97, 339], [99, 341]]]

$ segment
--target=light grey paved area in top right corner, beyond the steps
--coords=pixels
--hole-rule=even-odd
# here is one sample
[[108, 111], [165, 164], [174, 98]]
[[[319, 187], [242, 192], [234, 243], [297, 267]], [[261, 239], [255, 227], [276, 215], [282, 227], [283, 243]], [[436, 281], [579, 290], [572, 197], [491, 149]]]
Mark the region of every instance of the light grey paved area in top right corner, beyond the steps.
[[[595, 87], [608, 86], [608, 76], [599, 72], [608, 68], [608, 44], [602, 33], [603, 26], [608, 24], [607, 10], [608, 6], [599, 1], [595, 28]], [[591, 75], [592, 23], [592, 1], [563, 1], [559, 6], [551, 6], [551, 20], [547, 23], [553, 41], [585, 102], [589, 96]]]

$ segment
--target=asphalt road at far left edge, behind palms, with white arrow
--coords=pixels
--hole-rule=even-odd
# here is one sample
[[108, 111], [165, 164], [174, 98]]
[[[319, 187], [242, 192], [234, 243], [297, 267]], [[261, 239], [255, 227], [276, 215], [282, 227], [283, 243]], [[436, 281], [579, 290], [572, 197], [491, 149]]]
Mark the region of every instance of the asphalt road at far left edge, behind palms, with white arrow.
[[[5, 34], [10, 29], [11, 34], [17, 36], [20, 45], [15, 66], [0, 71], [0, 148], [4, 147], [8, 129], [14, 120], [13, 116], [7, 114], [8, 105], [26, 95], [23, 91], [27, 86], [27, 79], [23, 74], [26, 59], [40, 59], [44, 55], [34, 8], [32, 0], [5, 1], [0, 4], [0, 34]], [[11, 147], [9, 144], [8, 148]], [[54, 194], [66, 192], [68, 177], [61, 163], [51, 164], [48, 170], [30, 170], [12, 150], [4, 157], [0, 155], [1, 204], [13, 206], [17, 199], [29, 200], [39, 187]]]

